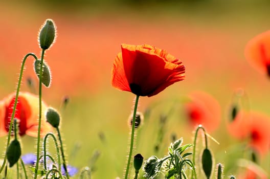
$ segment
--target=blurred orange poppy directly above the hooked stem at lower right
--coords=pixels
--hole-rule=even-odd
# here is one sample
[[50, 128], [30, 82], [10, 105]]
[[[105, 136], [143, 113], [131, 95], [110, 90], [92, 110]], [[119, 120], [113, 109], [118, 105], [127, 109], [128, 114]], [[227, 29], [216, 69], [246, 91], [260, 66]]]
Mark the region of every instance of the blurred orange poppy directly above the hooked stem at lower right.
[[221, 119], [220, 105], [216, 99], [205, 92], [192, 92], [184, 110], [192, 127], [201, 124], [207, 131], [215, 130]]

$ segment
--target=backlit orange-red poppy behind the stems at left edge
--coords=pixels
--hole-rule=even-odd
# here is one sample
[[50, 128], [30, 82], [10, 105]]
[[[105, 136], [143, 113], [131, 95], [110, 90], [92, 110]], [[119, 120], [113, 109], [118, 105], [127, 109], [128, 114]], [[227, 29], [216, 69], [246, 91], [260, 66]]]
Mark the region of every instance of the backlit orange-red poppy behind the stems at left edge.
[[[9, 131], [9, 124], [15, 102], [15, 94], [9, 95], [0, 102], [0, 136], [5, 136]], [[46, 111], [47, 105], [42, 102], [42, 115]], [[39, 115], [38, 97], [30, 93], [19, 93], [16, 112], [14, 118], [18, 121], [18, 133], [20, 136], [29, 135], [37, 137]], [[44, 136], [52, 130], [49, 123], [41, 118], [40, 135]]]

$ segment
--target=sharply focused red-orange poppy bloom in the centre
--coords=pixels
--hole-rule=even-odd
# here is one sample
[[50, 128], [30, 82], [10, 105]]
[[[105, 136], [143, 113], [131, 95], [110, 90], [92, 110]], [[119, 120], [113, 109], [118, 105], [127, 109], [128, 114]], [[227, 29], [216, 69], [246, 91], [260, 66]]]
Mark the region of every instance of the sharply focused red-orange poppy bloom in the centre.
[[122, 91], [150, 97], [185, 78], [183, 63], [166, 50], [147, 44], [122, 44], [121, 48], [111, 71], [111, 83]]

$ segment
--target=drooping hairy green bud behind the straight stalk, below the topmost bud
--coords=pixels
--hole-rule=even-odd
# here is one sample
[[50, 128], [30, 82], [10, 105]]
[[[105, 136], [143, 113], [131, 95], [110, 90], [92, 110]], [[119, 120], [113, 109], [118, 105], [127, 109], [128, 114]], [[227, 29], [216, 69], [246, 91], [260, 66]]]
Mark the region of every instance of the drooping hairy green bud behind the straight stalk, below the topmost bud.
[[[37, 77], [39, 78], [39, 71], [40, 71], [40, 60], [35, 60], [34, 62], [34, 69], [35, 69], [35, 73], [37, 74]], [[43, 62], [42, 65], [42, 78], [41, 78], [41, 82], [46, 86], [49, 87], [51, 84], [51, 71], [50, 68], [48, 66], [48, 64], [46, 64], [45, 62]]]

